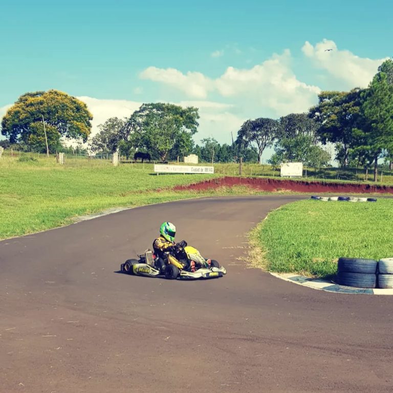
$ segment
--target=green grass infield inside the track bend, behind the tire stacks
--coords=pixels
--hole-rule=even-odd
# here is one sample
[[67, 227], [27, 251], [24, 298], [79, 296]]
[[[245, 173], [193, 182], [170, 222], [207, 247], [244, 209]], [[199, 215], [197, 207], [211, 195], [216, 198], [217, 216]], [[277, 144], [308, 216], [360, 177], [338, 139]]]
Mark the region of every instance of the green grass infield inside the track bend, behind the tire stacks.
[[271, 212], [250, 237], [260, 267], [330, 277], [336, 273], [339, 257], [393, 256], [392, 233], [392, 199], [378, 198], [377, 203], [305, 200]]

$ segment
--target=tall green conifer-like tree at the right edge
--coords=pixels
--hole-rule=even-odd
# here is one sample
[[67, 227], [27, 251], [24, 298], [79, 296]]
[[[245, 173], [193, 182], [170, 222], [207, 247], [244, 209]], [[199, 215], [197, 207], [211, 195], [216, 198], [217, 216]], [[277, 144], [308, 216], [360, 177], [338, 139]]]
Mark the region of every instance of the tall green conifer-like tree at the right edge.
[[363, 94], [363, 144], [374, 158], [374, 181], [378, 176], [378, 158], [393, 151], [393, 89], [387, 75], [380, 71]]

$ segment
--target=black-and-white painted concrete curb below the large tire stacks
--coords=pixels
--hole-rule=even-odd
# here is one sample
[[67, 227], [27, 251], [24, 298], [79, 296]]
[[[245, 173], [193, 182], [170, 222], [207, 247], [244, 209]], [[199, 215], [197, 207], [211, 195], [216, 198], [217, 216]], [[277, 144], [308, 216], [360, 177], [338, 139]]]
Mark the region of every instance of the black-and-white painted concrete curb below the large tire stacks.
[[324, 280], [322, 278], [310, 278], [301, 276], [294, 273], [272, 273], [270, 274], [274, 277], [280, 278], [285, 281], [293, 282], [297, 285], [302, 285], [304, 287], [319, 289], [328, 292], [337, 293], [354, 293], [354, 294], [365, 294], [365, 295], [393, 295], [393, 289], [372, 289], [372, 288], [354, 288], [345, 287], [343, 285], [338, 285], [333, 281]]

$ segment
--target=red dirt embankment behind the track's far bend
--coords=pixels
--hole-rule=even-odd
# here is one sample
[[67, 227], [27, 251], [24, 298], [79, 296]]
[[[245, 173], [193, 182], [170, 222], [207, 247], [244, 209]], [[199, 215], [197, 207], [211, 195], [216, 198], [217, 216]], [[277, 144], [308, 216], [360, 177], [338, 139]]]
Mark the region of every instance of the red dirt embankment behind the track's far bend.
[[258, 179], [225, 177], [206, 180], [188, 186], [176, 186], [175, 190], [206, 190], [209, 188], [248, 186], [260, 191], [296, 191], [296, 192], [345, 192], [345, 193], [390, 193], [393, 186], [355, 183], [308, 182], [282, 179]]

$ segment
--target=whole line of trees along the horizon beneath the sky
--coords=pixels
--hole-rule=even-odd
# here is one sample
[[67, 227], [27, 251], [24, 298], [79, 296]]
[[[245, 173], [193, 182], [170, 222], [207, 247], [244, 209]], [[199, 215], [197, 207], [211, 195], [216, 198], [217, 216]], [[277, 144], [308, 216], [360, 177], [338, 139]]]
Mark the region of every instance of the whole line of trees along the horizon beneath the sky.
[[[6, 144], [30, 151], [64, 151], [62, 139], [88, 141], [91, 113], [86, 104], [56, 90], [26, 93], [2, 120]], [[114, 152], [129, 158], [136, 150], [149, 152], [160, 161], [197, 154], [200, 161], [261, 162], [266, 148], [274, 148], [272, 165], [301, 161], [326, 166], [333, 158], [326, 145], [334, 146], [341, 167], [374, 166], [385, 158], [393, 169], [393, 60], [385, 61], [366, 89], [350, 92], [323, 91], [318, 104], [307, 113], [292, 113], [279, 119], [247, 120], [232, 144], [205, 138], [195, 144], [198, 108], [168, 103], [144, 103], [130, 117], [116, 117], [99, 125], [89, 140], [93, 152]]]

